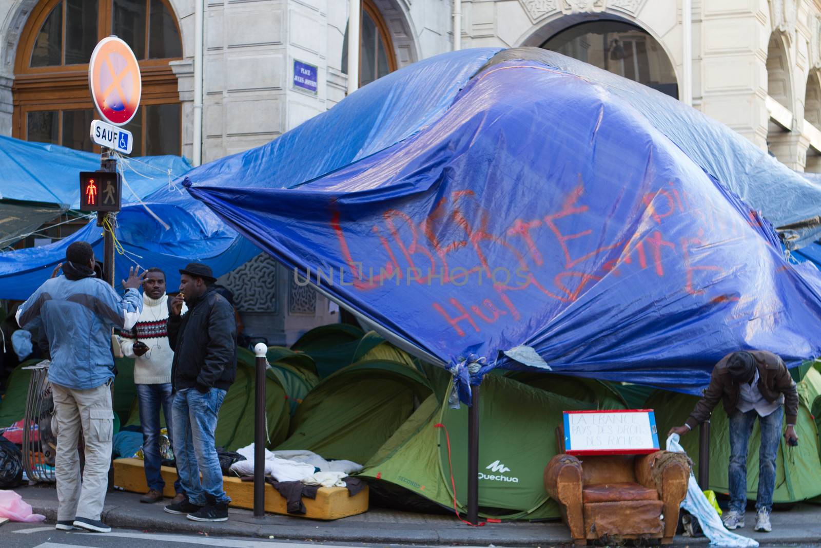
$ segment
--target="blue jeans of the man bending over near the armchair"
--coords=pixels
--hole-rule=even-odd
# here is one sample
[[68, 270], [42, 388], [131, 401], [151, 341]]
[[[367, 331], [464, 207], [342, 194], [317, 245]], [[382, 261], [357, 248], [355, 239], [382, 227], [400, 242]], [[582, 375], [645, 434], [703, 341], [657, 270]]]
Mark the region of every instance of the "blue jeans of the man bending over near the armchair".
[[767, 417], [759, 417], [755, 410], [737, 411], [730, 417], [730, 509], [744, 513], [747, 505], [747, 446], [755, 419], [761, 428], [759, 452], [759, 492], [755, 509], [773, 509], [775, 490], [775, 459], [781, 441], [784, 408], [779, 407]]

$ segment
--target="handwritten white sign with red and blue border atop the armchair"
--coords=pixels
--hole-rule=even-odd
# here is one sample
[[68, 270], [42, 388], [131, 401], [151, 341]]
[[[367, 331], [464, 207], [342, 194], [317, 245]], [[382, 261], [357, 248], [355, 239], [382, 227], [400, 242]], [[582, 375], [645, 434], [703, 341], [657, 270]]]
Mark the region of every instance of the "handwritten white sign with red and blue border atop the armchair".
[[565, 453], [649, 454], [658, 451], [652, 409], [564, 412]]

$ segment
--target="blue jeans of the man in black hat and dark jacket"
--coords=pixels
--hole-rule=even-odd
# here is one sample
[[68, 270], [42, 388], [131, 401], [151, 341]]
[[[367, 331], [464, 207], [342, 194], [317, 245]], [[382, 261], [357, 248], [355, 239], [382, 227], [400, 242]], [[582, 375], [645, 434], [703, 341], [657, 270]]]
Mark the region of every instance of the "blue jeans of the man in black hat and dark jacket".
[[181, 389], [174, 396], [174, 455], [182, 488], [192, 504], [204, 506], [208, 502], [206, 495], [217, 503], [231, 502], [222, 489], [222, 468], [213, 442], [224, 398], [225, 390], [217, 388], [206, 394], [193, 388]]

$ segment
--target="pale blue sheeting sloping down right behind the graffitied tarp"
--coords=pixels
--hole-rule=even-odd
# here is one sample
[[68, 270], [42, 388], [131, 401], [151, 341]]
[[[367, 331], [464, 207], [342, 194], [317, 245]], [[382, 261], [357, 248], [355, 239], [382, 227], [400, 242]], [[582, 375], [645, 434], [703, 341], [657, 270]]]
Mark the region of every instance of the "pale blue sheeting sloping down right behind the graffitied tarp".
[[808, 222], [790, 231], [787, 246], [797, 249], [821, 237], [821, 184], [816, 174], [796, 173], [765, 154], [744, 136], [695, 108], [638, 82], [542, 48], [511, 48], [488, 63], [530, 59], [600, 85], [624, 99], [707, 173], [764, 214], [775, 227]]

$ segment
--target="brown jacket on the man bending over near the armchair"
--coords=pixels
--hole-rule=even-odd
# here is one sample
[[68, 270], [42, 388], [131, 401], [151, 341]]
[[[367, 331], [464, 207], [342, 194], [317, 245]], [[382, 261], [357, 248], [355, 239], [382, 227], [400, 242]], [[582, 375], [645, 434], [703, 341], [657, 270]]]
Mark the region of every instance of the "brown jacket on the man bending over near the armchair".
[[[784, 394], [784, 412], [787, 417], [787, 424], [796, 424], [798, 392], [796, 391], [796, 383], [793, 382], [790, 376], [790, 371], [787, 371], [787, 366], [773, 352], [752, 350], [750, 354], [753, 355], [756, 365], [759, 367], [759, 392], [770, 403], [776, 401], [781, 394]], [[721, 361], [713, 367], [713, 375], [710, 378], [710, 385], [704, 392], [704, 398], [699, 399], [699, 403], [695, 404], [695, 409], [686, 421], [686, 425], [690, 428], [695, 428], [699, 423], [706, 421], [710, 416], [710, 412], [718, 404], [719, 399], [723, 399], [724, 411], [727, 412], [728, 416], [736, 411], [739, 393], [738, 384], [732, 380], [730, 373], [727, 371], [727, 358], [731, 355], [732, 353], [722, 357]]]

